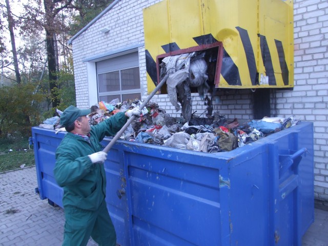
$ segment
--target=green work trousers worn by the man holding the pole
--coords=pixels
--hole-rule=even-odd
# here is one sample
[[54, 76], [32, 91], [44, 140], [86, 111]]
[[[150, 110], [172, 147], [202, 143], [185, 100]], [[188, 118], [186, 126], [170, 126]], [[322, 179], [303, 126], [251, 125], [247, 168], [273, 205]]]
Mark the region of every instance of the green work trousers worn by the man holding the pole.
[[116, 233], [105, 200], [97, 211], [65, 208], [63, 246], [85, 246], [90, 236], [101, 246], [116, 246]]

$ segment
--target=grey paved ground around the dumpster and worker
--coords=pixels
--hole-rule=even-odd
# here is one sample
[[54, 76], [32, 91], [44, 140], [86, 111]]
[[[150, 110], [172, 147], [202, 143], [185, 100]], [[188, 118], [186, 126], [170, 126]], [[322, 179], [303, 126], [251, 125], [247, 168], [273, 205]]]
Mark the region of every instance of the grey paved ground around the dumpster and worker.
[[[63, 209], [40, 200], [36, 187], [35, 167], [0, 174], [1, 246], [61, 245]], [[328, 211], [315, 209], [315, 222], [302, 241], [302, 246], [328, 246]], [[88, 246], [93, 245], [90, 240]]]

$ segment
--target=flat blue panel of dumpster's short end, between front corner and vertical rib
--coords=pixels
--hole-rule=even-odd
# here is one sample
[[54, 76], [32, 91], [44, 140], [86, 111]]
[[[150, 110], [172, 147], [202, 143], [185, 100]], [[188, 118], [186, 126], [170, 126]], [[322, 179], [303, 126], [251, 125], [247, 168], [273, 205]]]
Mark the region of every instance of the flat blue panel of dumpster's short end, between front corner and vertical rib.
[[269, 245], [267, 145], [247, 148], [227, 165], [231, 167], [231, 245]]

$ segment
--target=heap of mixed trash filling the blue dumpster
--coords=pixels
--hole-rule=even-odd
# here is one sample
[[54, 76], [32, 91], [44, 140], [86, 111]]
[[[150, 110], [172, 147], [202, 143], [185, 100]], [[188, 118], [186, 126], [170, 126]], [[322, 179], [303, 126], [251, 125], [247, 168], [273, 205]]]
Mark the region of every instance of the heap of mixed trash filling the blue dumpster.
[[[128, 100], [119, 103], [118, 99], [106, 103], [101, 101], [91, 107], [90, 125], [128, 109], [140, 107], [140, 100]], [[65, 131], [61, 128], [58, 116], [44, 121], [39, 127], [55, 129], [56, 133]], [[231, 151], [243, 147], [269, 134], [296, 125], [294, 117], [264, 117], [261, 120], [250, 120], [239, 124], [238, 119], [228, 120], [218, 112], [210, 118], [192, 116], [190, 120], [174, 118], [151, 101], [141, 110], [141, 115], [135, 119], [120, 136], [127, 141], [143, 142], [178, 149], [202, 151], [208, 153]]]

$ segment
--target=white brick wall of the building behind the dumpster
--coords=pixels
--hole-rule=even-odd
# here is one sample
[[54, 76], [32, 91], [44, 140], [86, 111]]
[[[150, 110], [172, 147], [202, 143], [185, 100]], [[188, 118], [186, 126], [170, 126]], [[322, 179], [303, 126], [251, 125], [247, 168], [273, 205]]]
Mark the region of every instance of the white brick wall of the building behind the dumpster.
[[[160, 0], [121, 0], [108, 13], [73, 40], [74, 72], [77, 107], [87, 108], [89, 91], [96, 86], [88, 83], [84, 60], [106, 52], [115, 52], [139, 45], [139, 68], [142, 97], [147, 97], [146, 61], [142, 9]], [[110, 27], [108, 34], [100, 33]], [[276, 116], [314, 122], [315, 197], [328, 201], [328, 2], [326, 0], [294, 0], [295, 87], [293, 91], [278, 90], [272, 96]], [[96, 78], [94, 78], [96, 79]], [[192, 95], [197, 115], [206, 106]], [[155, 95], [153, 101], [177, 117], [167, 95]], [[228, 118], [252, 119], [250, 90], [222, 90], [214, 97], [213, 112]]]

